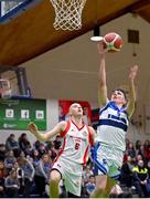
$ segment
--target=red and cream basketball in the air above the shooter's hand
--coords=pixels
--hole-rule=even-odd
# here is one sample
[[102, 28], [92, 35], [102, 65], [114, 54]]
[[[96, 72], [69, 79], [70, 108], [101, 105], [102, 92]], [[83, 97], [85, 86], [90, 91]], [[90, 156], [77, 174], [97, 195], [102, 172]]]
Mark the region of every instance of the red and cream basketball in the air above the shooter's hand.
[[116, 32], [110, 32], [104, 36], [103, 44], [107, 52], [118, 52], [122, 46], [122, 39]]

